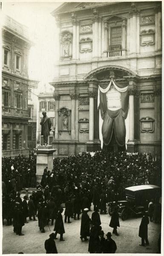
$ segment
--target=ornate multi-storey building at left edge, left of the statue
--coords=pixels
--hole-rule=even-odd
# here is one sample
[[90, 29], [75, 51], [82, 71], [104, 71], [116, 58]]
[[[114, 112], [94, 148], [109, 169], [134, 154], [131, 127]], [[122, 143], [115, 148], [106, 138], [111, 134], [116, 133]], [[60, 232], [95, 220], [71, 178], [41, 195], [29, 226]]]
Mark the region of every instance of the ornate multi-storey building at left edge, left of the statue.
[[2, 27], [2, 156], [29, 154], [27, 28], [6, 16]]

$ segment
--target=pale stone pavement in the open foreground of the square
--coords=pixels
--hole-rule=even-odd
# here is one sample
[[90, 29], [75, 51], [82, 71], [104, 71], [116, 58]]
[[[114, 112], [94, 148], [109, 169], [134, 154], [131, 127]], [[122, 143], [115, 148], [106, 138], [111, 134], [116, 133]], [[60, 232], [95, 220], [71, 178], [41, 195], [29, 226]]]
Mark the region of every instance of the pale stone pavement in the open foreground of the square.
[[[93, 207], [91, 207], [93, 209]], [[92, 212], [89, 212], [91, 216]], [[109, 227], [110, 216], [101, 216], [101, 226], [104, 233], [112, 232]], [[64, 216], [63, 216], [64, 219]], [[28, 220], [29, 221], [29, 220]], [[120, 227], [118, 228], [119, 236], [113, 234], [112, 239], [117, 244], [116, 253], [156, 253], [157, 241], [160, 233], [160, 225], [150, 222], [148, 225], [148, 239], [150, 246], [141, 247], [141, 238], [138, 237], [139, 225], [141, 218], [131, 218], [127, 221], [122, 221], [120, 218]], [[49, 227], [51, 232], [49, 231]], [[12, 226], [3, 225], [3, 254], [9, 253], [46, 253], [44, 249], [44, 241], [49, 238], [49, 234], [53, 232], [54, 226], [46, 226], [46, 233], [40, 233], [38, 228], [38, 221], [29, 221], [22, 229], [25, 236], [17, 236], [13, 232]], [[72, 223], [64, 223], [65, 234], [63, 238], [65, 241], [55, 240], [58, 253], [88, 253], [88, 241], [81, 241], [80, 227], [81, 219], [74, 220]], [[106, 237], [106, 236], [105, 236]]]

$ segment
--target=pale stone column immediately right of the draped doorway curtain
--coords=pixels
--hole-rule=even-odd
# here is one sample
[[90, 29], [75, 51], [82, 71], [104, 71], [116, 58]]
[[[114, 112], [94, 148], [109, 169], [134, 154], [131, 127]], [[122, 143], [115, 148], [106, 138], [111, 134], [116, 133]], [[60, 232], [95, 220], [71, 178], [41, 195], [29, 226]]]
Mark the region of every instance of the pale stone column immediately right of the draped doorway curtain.
[[134, 141], [134, 89], [129, 89], [129, 141]]

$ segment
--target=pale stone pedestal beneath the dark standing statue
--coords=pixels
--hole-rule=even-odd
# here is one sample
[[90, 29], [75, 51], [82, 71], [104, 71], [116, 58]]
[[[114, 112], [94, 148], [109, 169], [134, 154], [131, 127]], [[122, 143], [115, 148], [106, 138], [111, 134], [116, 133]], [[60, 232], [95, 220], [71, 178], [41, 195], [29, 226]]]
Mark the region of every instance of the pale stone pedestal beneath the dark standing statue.
[[37, 146], [35, 153], [37, 154], [37, 166], [36, 166], [36, 176], [37, 182], [41, 181], [43, 171], [48, 166], [48, 170], [53, 169], [53, 153], [56, 151], [52, 145], [47, 146]]

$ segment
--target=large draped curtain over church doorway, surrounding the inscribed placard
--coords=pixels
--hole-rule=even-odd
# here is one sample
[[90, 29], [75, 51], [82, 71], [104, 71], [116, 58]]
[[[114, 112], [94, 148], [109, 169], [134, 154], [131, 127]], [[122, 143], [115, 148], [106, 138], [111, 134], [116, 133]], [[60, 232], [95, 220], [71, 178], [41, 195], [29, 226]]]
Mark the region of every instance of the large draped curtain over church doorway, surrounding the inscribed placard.
[[[121, 108], [115, 111], [111, 111], [107, 108], [106, 92], [109, 90], [111, 84], [114, 85], [116, 90], [121, 93]], [[119, 146], [125, 145], [126, 127], [125, 119], [127, 118], [128, 106], [129, 106], [129, 94], [127, 87], [110, 81], [109, 85], [103, 89], [99, 86], [98, 102], [100, 102], [101, 118], [103, 119], [102, 136], [105, 145], [109, 145], [113, 128], [115, 131], [115, 139]], [[99, 105], [99, 104], [98, 104]]]

